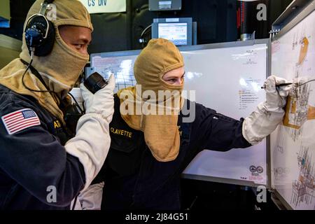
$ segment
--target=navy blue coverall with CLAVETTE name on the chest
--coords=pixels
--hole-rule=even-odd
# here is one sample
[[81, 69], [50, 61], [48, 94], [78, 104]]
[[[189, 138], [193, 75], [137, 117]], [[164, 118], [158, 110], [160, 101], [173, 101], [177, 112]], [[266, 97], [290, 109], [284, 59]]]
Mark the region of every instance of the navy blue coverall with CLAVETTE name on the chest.
[[251, 146], [241, 134], [243, 119], [228, 118], [196, 104], [193, 123], [182, 123], [183, 114], [179, 115], [181, 147], [176, 160], [159, 162], [148, 149], [144, 134], [121, 118], [119, 106], [116, 96], [111, 148], [94, 181], [105, 183], [102, 209], [180, 209], [181, 173], [197, 153], [204, 148], [228, 151]]

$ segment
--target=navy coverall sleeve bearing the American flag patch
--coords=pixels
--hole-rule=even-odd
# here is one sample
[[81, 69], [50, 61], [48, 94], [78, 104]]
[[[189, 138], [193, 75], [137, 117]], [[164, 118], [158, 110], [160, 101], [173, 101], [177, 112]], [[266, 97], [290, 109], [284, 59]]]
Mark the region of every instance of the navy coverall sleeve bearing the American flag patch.
[[[10, 102], [1, 109], [0, 117], [20, 109], [36, 111], [31, 106]], [[38, 117], [41, 120], [40, 114]], [[8, 134], [0, 120], [0, 167], [10, 179], [50, 206], [69, 206], [85, 184], [84, 169], [78, 158], [66, 153], [42, 120], [41, 125], [15, 134]], [[47, 200], [52, 188], [56, 189], [57, 202]]]

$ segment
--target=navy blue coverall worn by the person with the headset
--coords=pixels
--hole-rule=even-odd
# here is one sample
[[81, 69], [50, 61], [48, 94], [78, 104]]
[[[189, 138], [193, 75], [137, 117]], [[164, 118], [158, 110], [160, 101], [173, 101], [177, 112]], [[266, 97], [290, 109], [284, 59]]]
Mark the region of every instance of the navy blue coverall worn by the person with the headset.
[[[85, 173], [78, 158], [67, 154], [64, 149], [68, 137], [60, 121], [41, 108], [32, 97], [0, 85], [0, 117], [21, 110], [34, 111], [40, 125], [8, 134], [0, 122], [0, 207], [69, 207], [69, 202], [85, 184]], [[58, 197], [54, 204], [58, 207], [48, 205], [48, 186], [57, 186]]]

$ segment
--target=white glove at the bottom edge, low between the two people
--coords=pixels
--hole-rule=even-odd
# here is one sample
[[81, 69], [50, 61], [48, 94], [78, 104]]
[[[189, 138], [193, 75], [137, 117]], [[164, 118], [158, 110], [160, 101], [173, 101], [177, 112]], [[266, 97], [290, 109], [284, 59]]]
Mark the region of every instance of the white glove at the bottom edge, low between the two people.
[[104, 182], [90, 185], [81, 192], [74, 210], [101, 210]]

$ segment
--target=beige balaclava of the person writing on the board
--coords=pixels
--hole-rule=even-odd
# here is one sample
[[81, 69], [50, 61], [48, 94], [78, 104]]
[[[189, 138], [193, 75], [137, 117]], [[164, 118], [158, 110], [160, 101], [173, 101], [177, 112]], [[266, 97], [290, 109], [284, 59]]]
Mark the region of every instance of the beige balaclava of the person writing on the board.
[[[162, 76], [183, 65], [183, 56], [174, 43], [163, 38], [152, 39], [134, 63], [136, 87], [128, 87], [118, 92], [122, 118], [133, 129], [144, 132], [148, 148], [160, 162], [175, 160], [179, 154], [180, 135], [177, 121], [183, 90], [183, 84], [170, 85], [162, 80]], [[161, 90], [174, 94], [160, 99], [158, 95]], [[154, 93], [156, 98], [151, 97], [148, 91]], [[145, 92], [149, 93], [150, 97]], [[126, 114], [125, 109], [130, 107], [130, 102], [133, 105], [132, 113]], [[136, 114], [138, 106], [141, 113]], [[153, 107], [156, 107], [155, 114], [146, 113], [146, 109]], [[158, 113], [159, 110], [164, 112]], [[130, 112], [128, 108], [127, 111]]]

